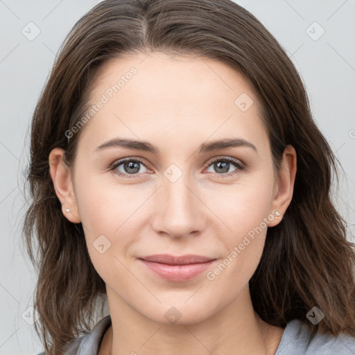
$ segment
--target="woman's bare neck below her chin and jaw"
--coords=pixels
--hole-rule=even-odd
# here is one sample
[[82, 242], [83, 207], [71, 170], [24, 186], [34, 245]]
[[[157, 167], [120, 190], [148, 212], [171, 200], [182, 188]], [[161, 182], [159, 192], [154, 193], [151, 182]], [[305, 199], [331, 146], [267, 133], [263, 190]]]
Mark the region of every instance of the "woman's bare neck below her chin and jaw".
[[225, 309], [197, 324], [155, 322], [112, 296], [107, 292], [112, 326], [99, 355], [273, 355], [284, 331], [254, 312], [248, 287]]

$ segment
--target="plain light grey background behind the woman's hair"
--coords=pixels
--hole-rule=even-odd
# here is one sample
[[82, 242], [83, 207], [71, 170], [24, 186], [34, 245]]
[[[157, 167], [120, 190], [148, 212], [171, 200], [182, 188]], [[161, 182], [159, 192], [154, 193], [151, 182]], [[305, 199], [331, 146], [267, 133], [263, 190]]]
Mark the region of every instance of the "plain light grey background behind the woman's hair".
[[[334, 194], [348, 221], [349, 235], [354, 238], [355, 1], [236, 2], [275, 35], [301, 74], [315, 121], [345, 170]], [[37, 354], [42, 350], [33, 325], [25, 320], [31, 311], [28, 306], [36, 274], [20, 242], [24, 214], [22, 171], [27, 164], [24, 141], [28, 144], [28, 123], [55, 53], [73, 24], [96, 3], [0, 0], [1, 355]], [[319, 25], [313, 24], [315, 21]], [[38, 31], [36, 27], [39, 35], [28, 40]], [[322, 28], [325, 32], [319, 37]]]

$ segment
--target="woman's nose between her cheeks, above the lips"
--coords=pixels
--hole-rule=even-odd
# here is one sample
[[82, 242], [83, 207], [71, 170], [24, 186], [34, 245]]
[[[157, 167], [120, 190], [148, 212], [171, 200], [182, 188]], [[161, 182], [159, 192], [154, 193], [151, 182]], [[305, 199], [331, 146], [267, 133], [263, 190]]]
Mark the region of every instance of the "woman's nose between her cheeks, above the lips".
[[196, 185], [191, 184], [187, 174], [175, 182], [164, 178], [155, 196], [155, 232], [173, 238], [200, 234], [205, 228], [208, 209], [198, 195]]

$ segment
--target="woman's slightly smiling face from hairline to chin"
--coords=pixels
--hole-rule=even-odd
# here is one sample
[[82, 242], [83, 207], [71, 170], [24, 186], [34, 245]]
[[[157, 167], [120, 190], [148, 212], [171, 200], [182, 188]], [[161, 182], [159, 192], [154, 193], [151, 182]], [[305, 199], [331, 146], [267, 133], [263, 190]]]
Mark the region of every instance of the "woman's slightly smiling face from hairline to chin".
[[[71, 210], [109, 300], [157, 322], [211, 317], [248, 288], [278, 223], [257, 97], [227, 64], [155, 52], [105, 64], [98, 101], [80, 132]], [[156, 254], [211, 261], [142, 260]]]

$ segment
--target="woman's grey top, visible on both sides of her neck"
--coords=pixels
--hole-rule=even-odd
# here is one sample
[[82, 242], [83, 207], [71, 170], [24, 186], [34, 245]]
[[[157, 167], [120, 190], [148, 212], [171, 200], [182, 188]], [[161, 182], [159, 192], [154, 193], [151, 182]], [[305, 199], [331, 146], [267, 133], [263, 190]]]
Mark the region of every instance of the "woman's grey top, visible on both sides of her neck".
[[[73, 340], [64, 355], [97, 355], [101, 340], [110, 325], [110, 315], [106, 315], [91, 332]], [[38, 355], [45, 354], [42, 352]], [[295, 319], [286, 325], [275, 355], [355, 355], [355, 337], [319, 333], [312, 336], [307, 324]]]

